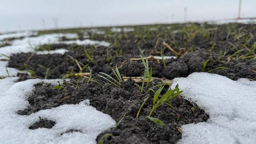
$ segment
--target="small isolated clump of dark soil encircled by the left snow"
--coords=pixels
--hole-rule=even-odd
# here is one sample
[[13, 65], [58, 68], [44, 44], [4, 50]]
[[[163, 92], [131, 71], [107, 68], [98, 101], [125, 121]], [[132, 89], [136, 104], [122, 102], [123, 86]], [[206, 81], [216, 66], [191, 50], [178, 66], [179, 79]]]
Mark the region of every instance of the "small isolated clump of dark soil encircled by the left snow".
[[54, 121], [48, 120], [46, 118], [40, 118], [39, 121], [36, 121], [32, 125], [30, 125], [29, 129], [35, 130], [37, 128], [52, 128], [54, 125]]

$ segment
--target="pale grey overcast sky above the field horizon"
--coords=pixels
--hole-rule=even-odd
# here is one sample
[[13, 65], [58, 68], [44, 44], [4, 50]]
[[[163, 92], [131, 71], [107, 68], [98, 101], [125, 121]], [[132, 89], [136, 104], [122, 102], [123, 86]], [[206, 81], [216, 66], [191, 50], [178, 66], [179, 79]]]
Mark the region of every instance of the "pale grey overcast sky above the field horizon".
[[[239, 0], [0, 0], [0, 31], [207, 21], [237, 17]], [[256, 0], [242, 16], [256, 17]]]

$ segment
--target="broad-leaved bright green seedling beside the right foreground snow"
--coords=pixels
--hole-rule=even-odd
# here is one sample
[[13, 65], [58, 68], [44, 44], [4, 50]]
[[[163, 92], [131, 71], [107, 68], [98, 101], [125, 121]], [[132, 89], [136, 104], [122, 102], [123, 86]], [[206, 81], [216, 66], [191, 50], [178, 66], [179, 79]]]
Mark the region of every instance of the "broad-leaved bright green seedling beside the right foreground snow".
[[178, 95], [180, 95], [182, 93], [182, 91], [179, 91], [179, 85], [177, 84], [175, 86], [175, 89], [172, 90], [170, 87], [168, 89], [168, 91], [159, 99], [160, 93], [163, 90], [164, 86], [161, 86], [155, 93], [154, 98], [153, 98], [153, 106], [152, 109], [150, 111], [149, 116], [151, 116], [151, 114], [160, 106], [162, 105], [168, 105], [170, 106], [172, 109], [174, 109], [174, 107], [172, 107], [170, 100], [172, 98], [177, 97]]

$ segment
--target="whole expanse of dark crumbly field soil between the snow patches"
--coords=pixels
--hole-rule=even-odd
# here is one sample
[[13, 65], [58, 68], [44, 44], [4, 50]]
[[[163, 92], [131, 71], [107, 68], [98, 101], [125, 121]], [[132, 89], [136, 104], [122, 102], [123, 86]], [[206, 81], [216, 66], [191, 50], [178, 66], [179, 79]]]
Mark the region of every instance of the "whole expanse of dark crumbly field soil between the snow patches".
[[[163, 46], [162, 42], [165, 41], [176, 51], [182, 47], [185, 47], [187, 51], [181, 58], [166, 59], [166, 66], [163, 60], [160, 60], [160, 63], [155, 60], [149, 61], [149, 67], [153, 69], [153, 77], [165, 79], [187, 77], [193, 72], [202, 72], [203, 63], [209, 59], [204, 72], [220, 74], [233, 80], [239, 78], [256, 80], [256, 60], [245, 57], [252, 56], [256, 52], [256, 37], [253, 37], [254, 33], [251, 33], [251, 30], [256, 30], [256, 25], [205, 24], [202, 28], [200, 24], [193, 24], [190, 27], [182, 25], [177, 27], [177, 30], [166, 33], [166, 29], [160, 27], [158, 31], [122, 32], [115, 34], [115, 37], [90, 34], [90, 39], [105, 40], [110, 42], [111, 46], [51, 44], [40, 46], [40, 50], [64, 48], [70, 51], [64, 55], [14, 54], [9, 60], [8, 67], [28, 72], [28, 74], [19, 73], [18, 81], [31, 78], [58, 79], [67, 77], [67, 74], [70, 78], [60, 89], [56, 89], [50, 84], [36, 84], [34, 93], [28, 98], [30, 106], [17, 111], [17, 113], [30, 115], [41, 109], [51, 109], [64, 104], [77, 104], [88, 99], [91, 106], [109, 114], [116, 122], [124, 117], [119, 125], [99, 135], [97, 141], [105, 133], [110, 133], [114, 137], [105, 139], [104, 143], [106, 144], [170, 144], [178, 142], [182, 138], [181, 125], [207, 121], [209, 116], [202, 109], [182, 97], [174, 98], [171, 100], [174, 109], [163, 105], [152, 114], [153, 117], [159, 118], [165, 123], [163, 126], [157, 125], [145, 119], [152, 108], [153, 92], [142, 93], [135, 86], [135, 81], [131, 79], [122, 81], [118, 88], [98, 76], [99, 72], [105, 72], [115, 77], [111, 70], [111, 67], [115, 66], [118, 67], [123, 77], [143, 76], [145, 68], [142, 61], [130, 61], [129, 59], [140, 58], [139, 55], [143, 53], [147, 53], [148, 56], [161, 56], [161, 51], [164, 56], [174, 56], [169, 49]], [[148, 31], [146, 30], [146, 32]], [[242, 49], [239, 50], [240, 46]], [[239, 55], [234, 55], [237, 51], [240, 51]], [[76, 60], [81, 67], [83, 65], [90, 67], [94, 81], [88, 82], [88, 78], [74, 77], [75, 73], [81, 72]], [[89, 67], [82, 72], [90, 72]], [[152, 81], [149, 87], [160, 83], [160, 81]], [[168, 86], [164, 88], [161, 95], [167, 89]], [[147, 97], [149, 99], [143, 106], [139, 118], [136, 118], [140, 105]], [[76, 130], [73, 131], [76, 132]]]

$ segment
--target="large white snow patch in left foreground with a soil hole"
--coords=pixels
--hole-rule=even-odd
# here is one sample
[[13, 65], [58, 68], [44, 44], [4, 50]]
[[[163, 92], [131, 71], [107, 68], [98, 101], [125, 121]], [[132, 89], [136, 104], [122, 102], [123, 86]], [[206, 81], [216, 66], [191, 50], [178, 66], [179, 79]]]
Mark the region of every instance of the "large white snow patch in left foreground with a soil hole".
[[[21, 116], [16, 111], [25, 109], [29, 103], [27, 95], [33, 91], [33, 84], [40, 79], [29, 79], [15, 83], [18, 77], [0, 79], [0, 143], [1, 144], [96, 144], [96, 137], [116, 122], [107, 114], [88, 105], [88, 100], [77, 105], [61, 105], [52, 109], [40, 110], [29, 116]], [[55, 83], [56, 80], [43, 80]], [[55, 121], [53, 128], [28, 127], [39, 116]], [[70, 129], [81, 132], [70, 132]]]

